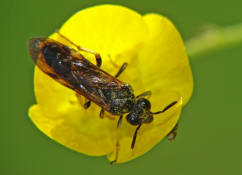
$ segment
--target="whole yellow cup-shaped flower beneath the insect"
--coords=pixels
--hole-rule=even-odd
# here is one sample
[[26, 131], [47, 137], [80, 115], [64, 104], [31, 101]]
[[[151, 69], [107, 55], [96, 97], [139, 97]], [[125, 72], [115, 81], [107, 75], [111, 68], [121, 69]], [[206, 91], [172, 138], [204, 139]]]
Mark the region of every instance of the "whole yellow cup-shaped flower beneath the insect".
[[[153, 112], [179, 101], [140, 128], [133, 150], [130, 146], [136, 126], [123, 120], [117, 163], [141, 156], [171, 131], [192, 94], [193, 78], [181, 36], [167, 18], [158, 14], [142, 16], [117, 5], [100, 5], [74, 14], [60, 33], [100, 53], [101, 68], [111, 75], [128, 62], [119, 79], [129, 83], [135, 95], [151, 90]], [[57, 34], [50, 38], [73, 47]], [[81, 54], [94, 62], [92, 55]], [[107, 155], [114, 160], [118, 116], [114, 120], [101, 119], [101, 108], [94, 103], [85, 110], [74, 91], [38, 68], [34, 85], [37, 104], [30, 107], [29, 115], [42, 132], [72, 150], [91, 156]]]

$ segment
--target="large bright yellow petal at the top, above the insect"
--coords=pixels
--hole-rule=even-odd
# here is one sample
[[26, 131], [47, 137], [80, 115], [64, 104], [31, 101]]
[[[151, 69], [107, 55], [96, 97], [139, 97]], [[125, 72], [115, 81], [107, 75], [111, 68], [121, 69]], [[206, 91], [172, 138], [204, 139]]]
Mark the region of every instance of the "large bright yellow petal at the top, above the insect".
[[[124, 60], [129, 62], [137, 54], [146, 40], [148, 28], [142, 16], [133, 10], [101, 5], [74, 14], [60, 32], [77, 45], [100, 53], [102, 69], [115, 74]], [[70, 45], [58, 35], [51, 37]]]

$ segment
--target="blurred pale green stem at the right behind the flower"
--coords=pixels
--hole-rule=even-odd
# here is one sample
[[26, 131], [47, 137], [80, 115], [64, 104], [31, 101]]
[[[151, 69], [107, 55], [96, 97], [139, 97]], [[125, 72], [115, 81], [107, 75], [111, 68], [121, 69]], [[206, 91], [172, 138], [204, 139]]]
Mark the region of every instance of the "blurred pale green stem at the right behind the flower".
[[203, 53], [222, 49], [242, 42], [242, 23], [225, 28], [213, 27], [186, 41], [188, 55], [195, 57]]

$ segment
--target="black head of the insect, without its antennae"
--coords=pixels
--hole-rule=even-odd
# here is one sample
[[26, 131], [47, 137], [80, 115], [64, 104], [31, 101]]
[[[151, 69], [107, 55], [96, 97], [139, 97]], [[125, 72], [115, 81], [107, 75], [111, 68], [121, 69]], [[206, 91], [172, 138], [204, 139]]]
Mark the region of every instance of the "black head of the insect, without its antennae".
[[131, 125], [150, 123], [153, 121], [153, 115], [150, 112], [150, 102], [145, 98], [139, 98], [126, 119]]

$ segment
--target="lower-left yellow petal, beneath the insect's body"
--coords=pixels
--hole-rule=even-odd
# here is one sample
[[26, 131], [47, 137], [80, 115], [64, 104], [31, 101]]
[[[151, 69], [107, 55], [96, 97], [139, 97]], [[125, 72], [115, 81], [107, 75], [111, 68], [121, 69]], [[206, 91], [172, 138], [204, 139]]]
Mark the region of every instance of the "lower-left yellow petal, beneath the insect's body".
[[33, 105], [29, 109], [29, 115], [35, 125], [62, 145], [92, 156], [112, 152], [110, 133], [98, 131], [114, 130], [115, 125], [108, 125], [108, 120], [103, 120], [102, 125], [99, 125], [96, 123], [98, 116], [89, 119], [82, 117], [81, 114], [83, 111], [77, 106], [72, 106], [65, 113], [56, 115], [46, 113], [40, 105]]

